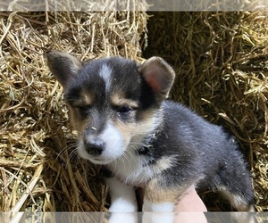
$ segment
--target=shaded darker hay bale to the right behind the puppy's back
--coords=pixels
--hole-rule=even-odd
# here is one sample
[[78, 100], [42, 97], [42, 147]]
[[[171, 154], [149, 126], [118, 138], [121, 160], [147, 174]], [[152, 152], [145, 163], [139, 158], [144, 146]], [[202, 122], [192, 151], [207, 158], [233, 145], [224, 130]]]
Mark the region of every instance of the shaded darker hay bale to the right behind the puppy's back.
[[256, 208], [267, 211], [268, 12], [149, 16], [145, 55], [174, 65], [173, 99], [237, 136], [252, 169]]

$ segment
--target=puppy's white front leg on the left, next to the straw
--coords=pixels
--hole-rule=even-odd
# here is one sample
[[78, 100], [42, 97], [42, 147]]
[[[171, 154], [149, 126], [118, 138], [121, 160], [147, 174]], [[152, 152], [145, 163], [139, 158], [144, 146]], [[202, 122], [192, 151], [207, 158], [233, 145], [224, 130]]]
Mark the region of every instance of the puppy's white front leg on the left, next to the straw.
[[135, 190], [132, 186], [124, 185], [117, 178], [106, 178], [106, 183], [110, 186], [111, 207], [113, 212], [133, 212], [138, 211]]

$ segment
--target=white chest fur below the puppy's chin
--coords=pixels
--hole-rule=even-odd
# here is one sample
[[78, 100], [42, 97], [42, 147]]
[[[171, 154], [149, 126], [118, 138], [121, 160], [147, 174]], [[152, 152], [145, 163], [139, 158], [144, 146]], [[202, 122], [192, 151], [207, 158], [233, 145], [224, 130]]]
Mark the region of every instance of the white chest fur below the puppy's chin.
[[110, 170], [123, 183], [131, 186], [145, 186], [147, 181], [160, 174], [166, 167], [163, 159], [155, 160], [153, 155], [144, 151], [129, 151], [110, 165]]

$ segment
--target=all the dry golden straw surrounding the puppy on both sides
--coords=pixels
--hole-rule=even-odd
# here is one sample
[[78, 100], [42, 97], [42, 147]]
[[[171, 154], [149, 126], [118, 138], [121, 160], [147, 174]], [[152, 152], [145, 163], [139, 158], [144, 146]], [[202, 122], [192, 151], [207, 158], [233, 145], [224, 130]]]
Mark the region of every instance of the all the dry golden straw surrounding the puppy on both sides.
[[99, 169], [76, 155], [63, 88], [46, 67], [49, 49], [82, 60], [163, 56], [178, 71], [172, 97], [238, 137], [253, 169], [256, 208], [267, 211], [266, 18], [266, 12], [155, 12], [149, 20], [145, 12], [0, 12], [0, 211], [107, 211]]

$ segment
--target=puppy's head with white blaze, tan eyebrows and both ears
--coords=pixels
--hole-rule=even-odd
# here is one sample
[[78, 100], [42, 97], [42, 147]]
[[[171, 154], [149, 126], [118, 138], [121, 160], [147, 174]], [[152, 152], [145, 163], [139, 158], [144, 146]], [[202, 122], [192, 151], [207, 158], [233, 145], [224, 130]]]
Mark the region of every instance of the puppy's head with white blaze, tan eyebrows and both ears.
[[80, 62], [54, 51], [47, 62], [63, 86], [80, 156], [98, 164], [116, 161], [157, 128], [175, 77], [159, 57], [141, 65], [120, 57]]

